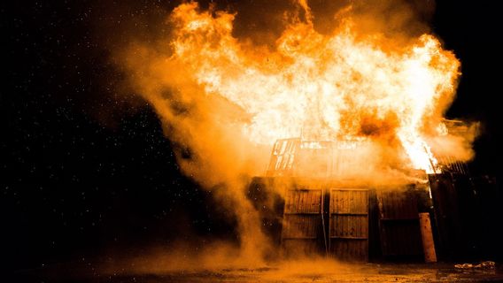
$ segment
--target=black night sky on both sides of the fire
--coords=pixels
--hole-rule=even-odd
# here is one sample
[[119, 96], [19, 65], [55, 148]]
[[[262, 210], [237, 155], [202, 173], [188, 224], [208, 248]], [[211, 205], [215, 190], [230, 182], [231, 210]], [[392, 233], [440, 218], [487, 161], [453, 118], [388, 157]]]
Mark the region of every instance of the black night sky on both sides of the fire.
[[[117, 94], [123, 77], [109, 47], [152, 28], [175, 4], [1, 5], [3, 267], [40, 267], [190, 235], [232, 238], [232, 219], [222, 220], [211, 193], [179, 172], [151, 107]], [[448, 115], [483, 123], [471, 169], [492, 176], [501, 173], [501, 18], [493, 1], [438, 1], [432, 19], [462, 63]], [[143, 27], [133, 25], [138, 19]]]

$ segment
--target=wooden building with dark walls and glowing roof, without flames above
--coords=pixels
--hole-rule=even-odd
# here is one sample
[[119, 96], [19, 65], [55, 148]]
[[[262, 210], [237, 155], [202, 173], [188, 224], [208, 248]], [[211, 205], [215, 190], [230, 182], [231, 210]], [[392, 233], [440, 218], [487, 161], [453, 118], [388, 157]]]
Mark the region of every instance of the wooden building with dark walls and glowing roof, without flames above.
[[482, 249], [461, 221], [467, 215], [460, 207], [473, 204], [477, 190], [466, 164], [437, 156], [435, 173], [399, 168], [380, 179], [366, 165], [372, 154], [364, 139], [275, 142], [266, 176], [252, 181], [249, 197], [283, 256], [434, 262]]

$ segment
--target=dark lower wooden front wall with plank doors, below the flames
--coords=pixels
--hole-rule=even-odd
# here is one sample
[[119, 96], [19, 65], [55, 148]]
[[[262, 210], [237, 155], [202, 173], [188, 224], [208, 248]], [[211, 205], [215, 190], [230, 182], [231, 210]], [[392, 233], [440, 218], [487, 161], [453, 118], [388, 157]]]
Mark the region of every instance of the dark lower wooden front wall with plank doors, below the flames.
[[259, 211], [264, 233], [282, 256], [349, 261], [423, 258], [418, 214], [432, 215], [430, 203], [421, 204], [429, 200], [424, 187], [386, 190], [258, 177], [248, 197]]

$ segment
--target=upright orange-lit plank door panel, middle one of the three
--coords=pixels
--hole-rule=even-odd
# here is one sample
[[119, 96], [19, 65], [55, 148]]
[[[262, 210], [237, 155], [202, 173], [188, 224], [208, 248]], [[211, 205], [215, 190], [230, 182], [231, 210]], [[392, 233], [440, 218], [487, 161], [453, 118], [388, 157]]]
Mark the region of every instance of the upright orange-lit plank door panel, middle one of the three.
[[329, 249], [337, 259], [368, 261], [368, 190], [330, 189]]

